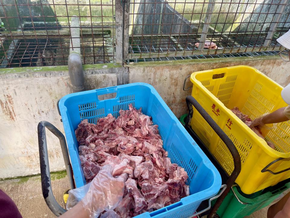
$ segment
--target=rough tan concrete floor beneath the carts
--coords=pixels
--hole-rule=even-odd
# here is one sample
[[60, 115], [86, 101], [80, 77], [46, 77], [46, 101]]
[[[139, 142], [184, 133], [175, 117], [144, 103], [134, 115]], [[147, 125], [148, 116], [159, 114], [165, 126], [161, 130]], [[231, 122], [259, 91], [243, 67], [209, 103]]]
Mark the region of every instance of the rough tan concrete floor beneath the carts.
[[[57, 202], [63, 205], [63, 193], [69, 189], [65, 172], [53, 173], [52, 189]], [[48, 209], [41, 191], [40, 176], [24, 177], [0, 181], [0, 189], [7, 193], [16, 203], [23, 218], [55, 218]], [[256, 211], [248, 218], [266, 218], [267, 208]]]

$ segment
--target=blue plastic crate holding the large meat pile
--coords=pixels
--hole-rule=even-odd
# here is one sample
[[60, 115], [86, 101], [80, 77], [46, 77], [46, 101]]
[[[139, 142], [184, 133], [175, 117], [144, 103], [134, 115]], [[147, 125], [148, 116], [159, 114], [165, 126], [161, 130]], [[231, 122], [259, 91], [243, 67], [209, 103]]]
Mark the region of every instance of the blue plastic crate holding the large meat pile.
[[[116, 93], [116, 97], [99, 100], [100, 95], [111, 93]], [[99, 118], [105, 117], [109, 113], [118, 117], [119, 110], [128, 109], [129, 104], [133, 104], [137, 109], [142, 107], [142, 112], [151, 116], [154, 124], [158, 125], [159, 133], [163, 139], [163, 148], [168, 152], [172, 163], [177, 163], [188, 173], [187, 184], [190, 191], [189, 196], [182, 198], [177, 203], [136, 217], [185, 218], [191, 216], [201, 201], [218, 193], [221, 187], [221, 176], [157, 91], [146, 83], [133, 83], [73, 93], [60, 100], [59, 108], [76, 187], [81, 187], [86, 183], [75, 135], [78, 124], [83, 119], [88, 119], [90, 123], [96, 123]]]

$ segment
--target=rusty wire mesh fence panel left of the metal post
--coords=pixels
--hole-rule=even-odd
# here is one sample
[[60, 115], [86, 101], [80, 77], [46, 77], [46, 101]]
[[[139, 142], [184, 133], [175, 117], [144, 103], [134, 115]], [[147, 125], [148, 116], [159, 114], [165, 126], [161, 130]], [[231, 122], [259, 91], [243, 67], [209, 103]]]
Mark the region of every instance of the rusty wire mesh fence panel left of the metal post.
[[0, 0], [0, 68], [66, 65], [70, 48], [83, 64], [114, 62], [114, 15], [114, 0]]

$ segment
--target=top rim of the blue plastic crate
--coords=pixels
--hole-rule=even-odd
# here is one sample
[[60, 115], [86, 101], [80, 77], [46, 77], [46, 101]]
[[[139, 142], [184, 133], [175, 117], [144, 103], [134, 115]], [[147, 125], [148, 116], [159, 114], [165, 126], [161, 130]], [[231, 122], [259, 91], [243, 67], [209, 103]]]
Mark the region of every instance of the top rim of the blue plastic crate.
[[[155, 96], [157, 97], [158, 101], [162, 104], [164, 109], [168, 112], [168, 114], [175, 121], [177, 127], [179, 127], [179, 129], [182, 131], [182, 133], [185, 134], [185, 137], [188, 138], [188, 140], [191, 142], [192, 146], [199, 153], [203, 164], [206, 167], [208, 167], [208, 170], [210, 170], [211, 173], [213, 174], [212, 178], [215, 178], [213, 183], [212, 183], [212, 185], [211, 185], [211, 187], [208, 187], [205, 190], [202, 190], [200, 192], [191, 194], [191, 195], [189, 195], [187, 197], [182, 198], [179, 202], [176, 202], [176, 203], [173, 203], [171, 205], [165, 206], [165, 207], [163, 207], [161, 209], [158, 209], [158, 210], [155, 210], [155, 211], [153, 211], [151, 213], [145, 212], [145, 213], [142, 213], [142, 214], [146, 214], [147, 213], [147, 214], [150, 214], [150, 216], [155, 216], [154, 214], [157, 215], [159, 212], [163, 213], [163, 212], [167, 212], [169, 210], [171, 210], [171, 211], [172, 210], [178, 210], [182, 206], [188, 204], [188, 201], [191, 200], [192, 198], [198, 199], [199, 201], [203, 201], [203, 200], [209, 199], [210, 197], [215, 196], [218, 193], [219, 190], [216, 191], [216, 190], [213, 189], [213, 187], [216, 187], [216, 186], [221, 187], [221, 175], [220, 175], [220, 173], [218, 172], [216, 167], [214, 167], [214, 165], [211, 163], [211, 161], [208, 159], [208, 157], [204, 154], [204, 152], [201, 150], [201, 148], [198, 146], [198, 144], [192, 139], [192, 137], [189, 135], [189, 133], [185, 130], [185, 128], [179, 122], [177, 117], [173, 114], [173, 112], [170, 110], [170, 108], [167, 106], [167, 104], [163, 101], [162, 97], [158, 94], [156, 89], [150, 84], [142, 83], [142, 82], [130, 83], [130, 84], [125, 84], [125, 85], [118, 85], [118, 86], [112, 86], [112, 87], [107, 87], [107, 88], [100, 88], [100, 89], [94, 89], [94, 90], [89, 90], [89, 91], [71, 93], [71, 94], [67, 94], [64, 97], [62, 97], [60, 99], [60, 101], [59, 101], [59, 108], [60, 108], [60, 114], [61, 114], [62, 121], [63, 121], [63, 127], [64, 127], [64, 130], [65, 130], [65, 136], [66, 136], [67, 145], [73, 144], [72, 132], [71, 132], [70, 129], [67, 128], [69, 126], [69, 121], [68, 121], [68, 117], [66, 115], [67, 108], [64, 105], [67, 99], [69, 99], [70, 97], [74, 97], [74, 96], [78, 96], [78, 95], [82, 95], [82, 94], [91, 94], [91, 93], [93, 94], [93, 93], [96, 93], [97, 91], [100, 91], [100, 90], [103, 90], [104, 94], [106, 94], [105, 90], [112, 90], [112, 89], [117, 89], [117, 88], [126, 88], [126, 87], [132, 87], [132, 86], [145, 86], [145, 87], [150, 88], [151, 93], [155, 94]], [[114, 97], [112, 99], [118, 99], [118, 95], [116, 95], [116, 97]], [[105, 101], [105, 100], [102, 100], [102, 101]], [[66, 126], [66, 128], [65, 128], [65, 126]], [[70, 146], [68, 146], [68, 150], [69, 150], [69, 156], [71, 156], [74, 153], [76, 153], [74, 150], [72, 150], [72, 148], [70, 148]], [[75, 154], [75, 155], [77, 155], [77, 157], [78, 157], [79, 154]], [[81, 174], [81, 172], [79, 172], [79, 168], [76, 167], [76, 165], [80, 166], [79, 158], [78, 158], [78, 163], [74, 163], [74, 164], [72, 163], [73, 175]], [[83, 185], [85, 185], [85, 184], [82, 184], [80, 186], [76, 184], [76, 187], [81, 187]], [[182, 202], [182, 204], [180, 204], [180, 202]]]

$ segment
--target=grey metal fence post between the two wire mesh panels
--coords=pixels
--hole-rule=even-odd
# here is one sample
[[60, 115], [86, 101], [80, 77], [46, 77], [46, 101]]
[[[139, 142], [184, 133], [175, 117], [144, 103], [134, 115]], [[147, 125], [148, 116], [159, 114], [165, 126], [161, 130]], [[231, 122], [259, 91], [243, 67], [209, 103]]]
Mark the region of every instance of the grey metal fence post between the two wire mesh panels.
[[117, 0], [116, 10], [116, 63], [125, 63], [129, 46], [130, 0]]

